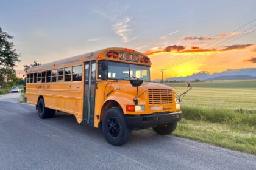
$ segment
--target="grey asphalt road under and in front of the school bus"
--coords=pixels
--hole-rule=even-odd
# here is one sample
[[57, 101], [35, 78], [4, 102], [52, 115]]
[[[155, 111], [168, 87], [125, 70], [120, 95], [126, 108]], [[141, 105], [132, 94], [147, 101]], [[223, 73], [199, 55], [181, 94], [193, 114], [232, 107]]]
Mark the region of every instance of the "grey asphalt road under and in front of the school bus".
[[0, 169], [256, 169], [253, 155], [148, 130], [111, 146], [72, 115], [41, 120], [19, 96], [0, 96]]

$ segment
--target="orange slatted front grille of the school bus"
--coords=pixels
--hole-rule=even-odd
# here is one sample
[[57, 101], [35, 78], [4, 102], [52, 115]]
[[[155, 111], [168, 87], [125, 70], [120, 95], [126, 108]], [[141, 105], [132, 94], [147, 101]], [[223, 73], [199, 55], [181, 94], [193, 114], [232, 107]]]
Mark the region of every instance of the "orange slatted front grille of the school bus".
[[170, 89], [149, 89], [149, 104], [172, 103], [172, 90]]

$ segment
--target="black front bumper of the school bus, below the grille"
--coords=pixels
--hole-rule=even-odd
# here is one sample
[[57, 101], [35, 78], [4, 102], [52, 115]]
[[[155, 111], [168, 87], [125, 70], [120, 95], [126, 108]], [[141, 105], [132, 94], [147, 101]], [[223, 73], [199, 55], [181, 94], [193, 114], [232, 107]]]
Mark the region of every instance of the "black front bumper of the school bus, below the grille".
[[126, 115], [126, 124], [131, 128], [154, 127], [180, 121], [182, 112], [162, 112], [148, 115]]

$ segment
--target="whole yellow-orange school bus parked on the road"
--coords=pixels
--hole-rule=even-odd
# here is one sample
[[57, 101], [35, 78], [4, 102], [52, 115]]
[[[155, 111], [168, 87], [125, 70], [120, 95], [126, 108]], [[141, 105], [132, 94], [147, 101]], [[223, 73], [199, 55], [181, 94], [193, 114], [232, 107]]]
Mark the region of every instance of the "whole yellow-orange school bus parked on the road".
[[125, 143], [133, 129], [171, 134], [182, 118], [174, 90], [150, 81], [150, 58], [136, 50], [108, 48], [32, 67], [26, 101], [40, 118], [55, 111], [102, 129], [108, 143]]

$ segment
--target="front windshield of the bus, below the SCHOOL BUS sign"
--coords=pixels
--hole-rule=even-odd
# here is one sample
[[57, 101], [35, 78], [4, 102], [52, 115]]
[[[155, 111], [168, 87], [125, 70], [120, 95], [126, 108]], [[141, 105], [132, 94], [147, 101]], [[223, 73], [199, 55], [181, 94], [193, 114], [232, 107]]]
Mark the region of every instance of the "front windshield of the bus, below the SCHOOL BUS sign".
[[136, 77], [143, 81], [150, 81], [149, 75], [150, 71], [148, 66], [108, 61], [109, 79], [123, 78], [123, 80], [130, 80], [130, 78], [134, 79], [134, 77]]

